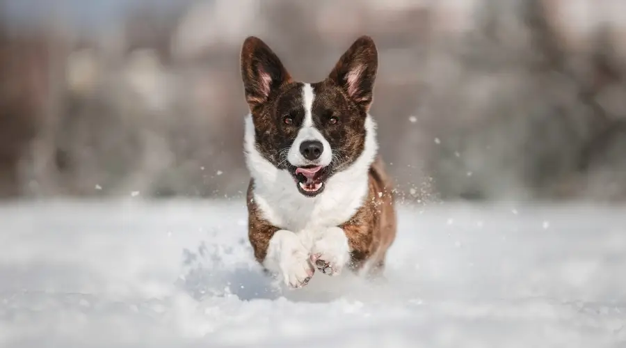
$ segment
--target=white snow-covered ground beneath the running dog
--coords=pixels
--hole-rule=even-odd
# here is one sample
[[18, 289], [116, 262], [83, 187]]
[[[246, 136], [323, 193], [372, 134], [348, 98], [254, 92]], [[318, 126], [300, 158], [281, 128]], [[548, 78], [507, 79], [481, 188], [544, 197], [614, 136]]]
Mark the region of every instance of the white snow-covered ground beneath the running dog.
[[626, 347], [623, 207], [403, 207], [387, 282], [259, 272], [242, 202], [0, 205], [0, 347]]

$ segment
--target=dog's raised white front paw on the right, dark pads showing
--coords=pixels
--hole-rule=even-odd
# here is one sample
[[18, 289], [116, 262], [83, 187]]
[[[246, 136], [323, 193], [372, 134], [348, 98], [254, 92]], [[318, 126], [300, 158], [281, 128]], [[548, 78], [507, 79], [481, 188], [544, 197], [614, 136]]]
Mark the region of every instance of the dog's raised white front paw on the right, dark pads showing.
[[350, 246], [344, 230], [328, 228], [317, 239], [312, 248], [311, 262], [323, 274], [337, 276], [350, 260]]

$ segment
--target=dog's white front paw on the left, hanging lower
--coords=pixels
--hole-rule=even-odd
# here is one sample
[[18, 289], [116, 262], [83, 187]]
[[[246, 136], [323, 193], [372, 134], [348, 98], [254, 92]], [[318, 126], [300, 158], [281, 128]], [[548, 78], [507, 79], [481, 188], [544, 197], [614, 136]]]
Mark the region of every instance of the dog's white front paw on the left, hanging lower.
[[298, 289], [309, 283], [314, 274], [309, 252], [302, 245], [294, 232], [279, 230], [270, 240], [268, 248], [268, 266], [273, 266], [284, 285]]

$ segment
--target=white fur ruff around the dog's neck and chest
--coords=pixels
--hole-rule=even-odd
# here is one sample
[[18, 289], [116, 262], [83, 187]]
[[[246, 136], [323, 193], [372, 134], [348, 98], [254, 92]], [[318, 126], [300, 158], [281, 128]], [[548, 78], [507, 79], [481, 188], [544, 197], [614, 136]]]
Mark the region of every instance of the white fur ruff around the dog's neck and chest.
[[278, 228], [300, 232], [310, 228], [338, 226], [350, 219], [364, 203], [369, 188], [369, 168], [376, 158], [376, 122], [365, 119], [365, 144], [358, 158], [326, 182], [319, 196], [305, 197], [291, 174], [276, 168], [257, 150], [252, 115], [246, 116], [244, 149], [254, 182], [255, 203], [264, 219]]

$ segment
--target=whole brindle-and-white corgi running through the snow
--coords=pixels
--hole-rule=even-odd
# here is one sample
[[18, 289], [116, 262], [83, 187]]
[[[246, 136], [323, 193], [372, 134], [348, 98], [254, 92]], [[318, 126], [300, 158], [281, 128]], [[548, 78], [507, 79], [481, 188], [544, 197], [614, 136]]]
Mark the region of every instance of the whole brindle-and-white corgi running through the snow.
[[378, 52], [362, 36], [328, 77], [295, 81], [261, 39], [246, 38], [241, 78], [250, 113], [248, 238], [265, 271], [307, 285], [315, 269], [380, 275], [396, 236], [394, 191], [369, 115]]

